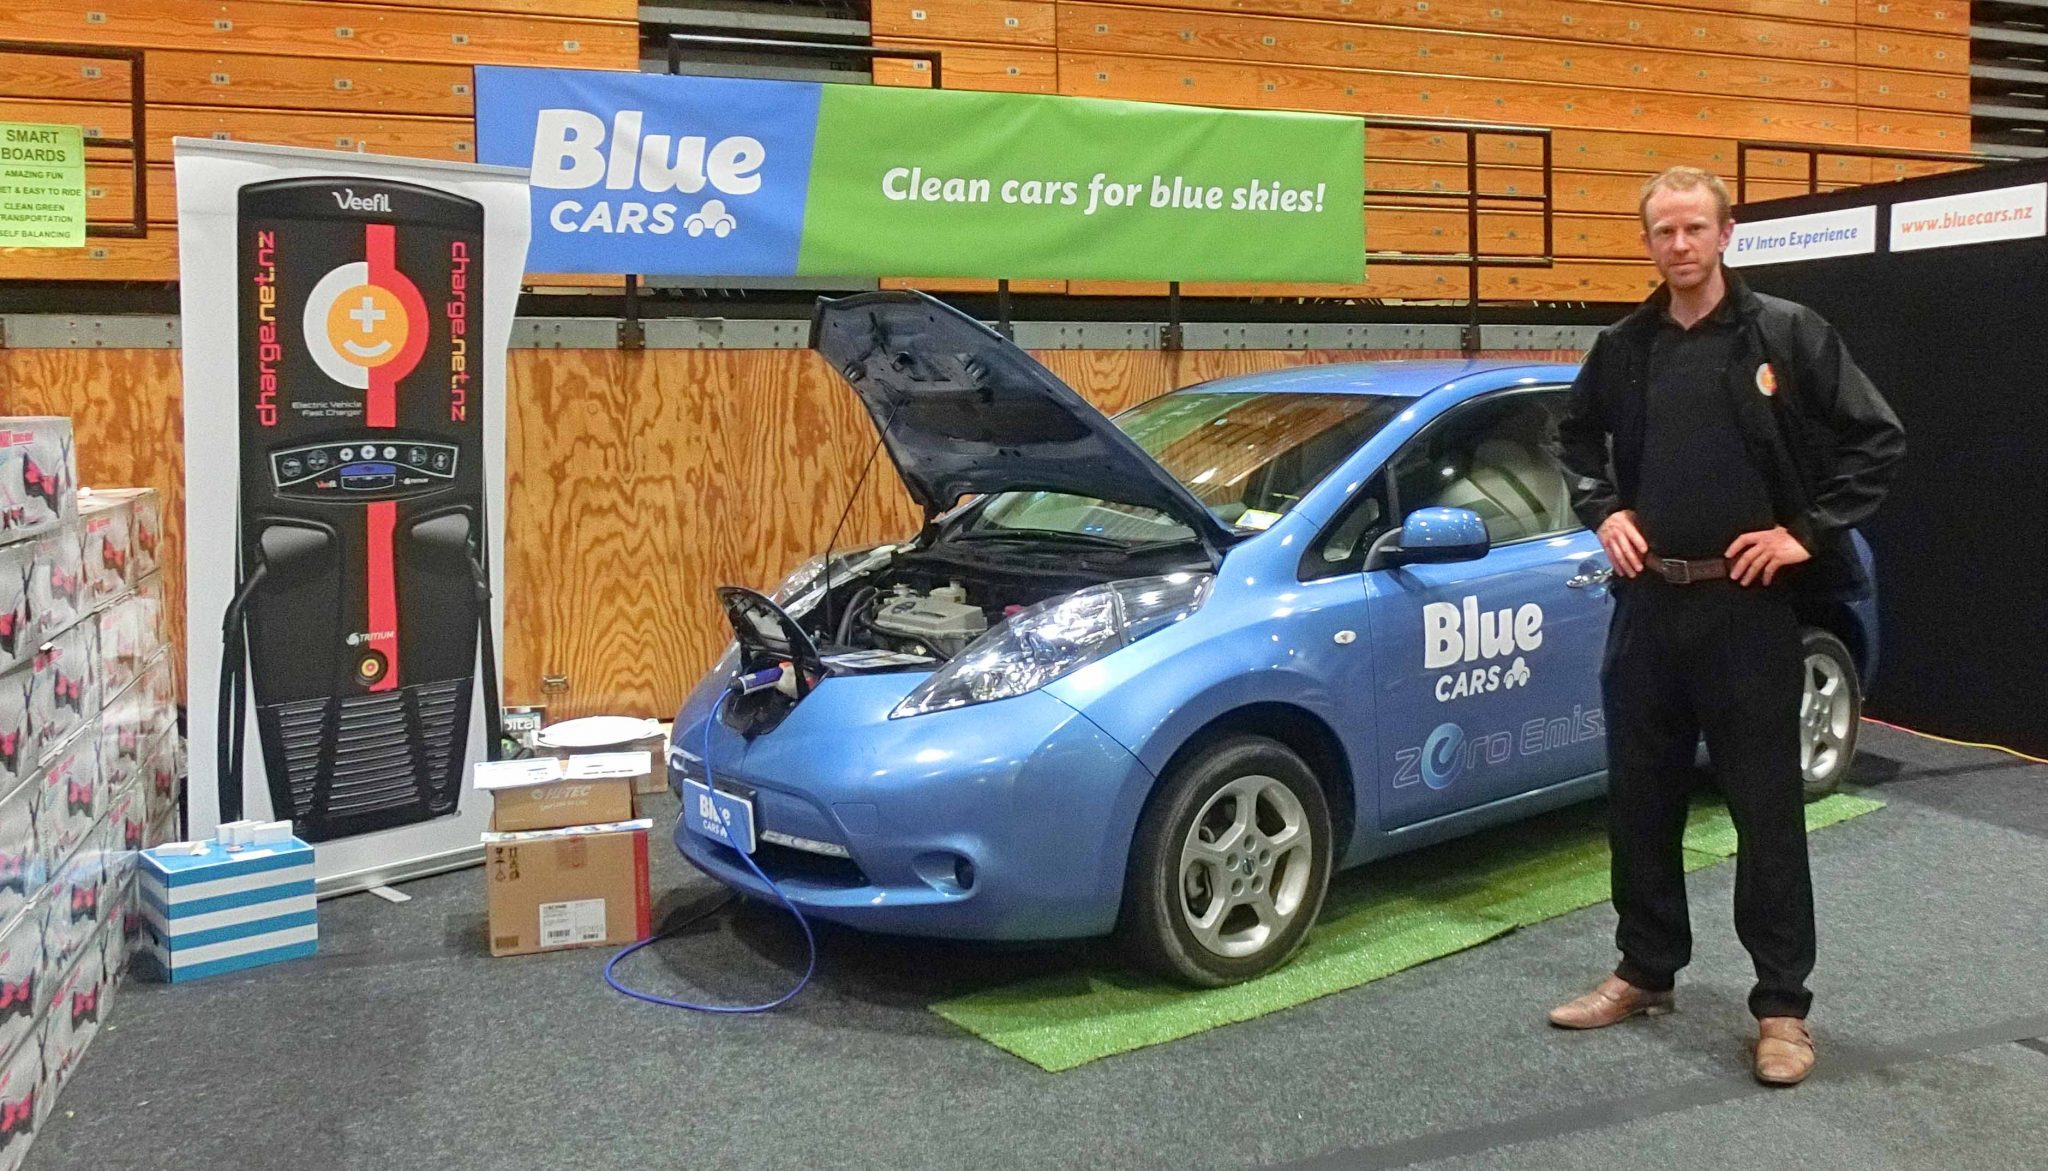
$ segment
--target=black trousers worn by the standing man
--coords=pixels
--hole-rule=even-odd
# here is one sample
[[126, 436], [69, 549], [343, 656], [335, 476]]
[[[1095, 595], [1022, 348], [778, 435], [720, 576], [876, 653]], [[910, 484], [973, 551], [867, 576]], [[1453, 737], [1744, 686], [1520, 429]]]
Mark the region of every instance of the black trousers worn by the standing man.
[[1692, 960], [1681, 841], [1704, 735], [1739, 841], [1735, 934], [1757, 968], [1749, 1011], [1804, 1017], [1815, 923], [1798, 764], [1804, 657], [1792, 602], [1782, 586], [1671, 586], [1651, 573], [1614, 581], [1599, 682], [1616, 974], [1663, 991]]

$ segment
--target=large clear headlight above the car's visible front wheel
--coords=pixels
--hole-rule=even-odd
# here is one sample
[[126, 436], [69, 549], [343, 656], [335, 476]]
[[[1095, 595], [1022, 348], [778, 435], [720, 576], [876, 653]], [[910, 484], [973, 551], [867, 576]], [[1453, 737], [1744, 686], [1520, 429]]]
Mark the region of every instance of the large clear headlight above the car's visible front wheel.
[[1210, 573], [1133, 577], [1018, 610], [918, 684], [889, 719], [1034, 692], [1194, 614], [1208, 600], [1212, 581]]

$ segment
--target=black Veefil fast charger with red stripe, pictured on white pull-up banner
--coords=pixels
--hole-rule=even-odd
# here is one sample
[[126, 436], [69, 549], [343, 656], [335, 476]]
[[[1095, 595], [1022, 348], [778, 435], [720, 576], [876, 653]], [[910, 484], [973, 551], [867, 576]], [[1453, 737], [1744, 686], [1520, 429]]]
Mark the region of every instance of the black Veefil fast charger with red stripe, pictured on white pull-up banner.
[[487, 581], [483, 209], [403, 182], [250, 184], [238, 252], [221, 819], [244, 805], [244, 635], [272, 817], [324, 841], [451, 815]]

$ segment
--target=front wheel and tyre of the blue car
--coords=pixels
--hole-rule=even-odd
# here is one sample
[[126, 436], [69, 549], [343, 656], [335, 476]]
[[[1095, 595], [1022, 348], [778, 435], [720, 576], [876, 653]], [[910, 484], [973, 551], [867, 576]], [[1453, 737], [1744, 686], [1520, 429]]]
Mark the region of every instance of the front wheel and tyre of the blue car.
[[1329, 803], [1286, 745], [1239, 735], [1176, 766], [1139, 817], [1116, 934], [1141, 968], [1194, 987], [1284, 964], [1323, 909]]

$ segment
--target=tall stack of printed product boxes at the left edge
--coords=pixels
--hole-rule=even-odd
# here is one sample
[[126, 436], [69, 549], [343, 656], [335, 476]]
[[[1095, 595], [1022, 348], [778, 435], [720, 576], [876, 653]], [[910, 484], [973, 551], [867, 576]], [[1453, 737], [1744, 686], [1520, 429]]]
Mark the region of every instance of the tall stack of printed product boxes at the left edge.
[[66, 420], [0, 420], [0, 1171], [141, 946], [139, 850], [178, 835], [154, 491], [80, 491]]

